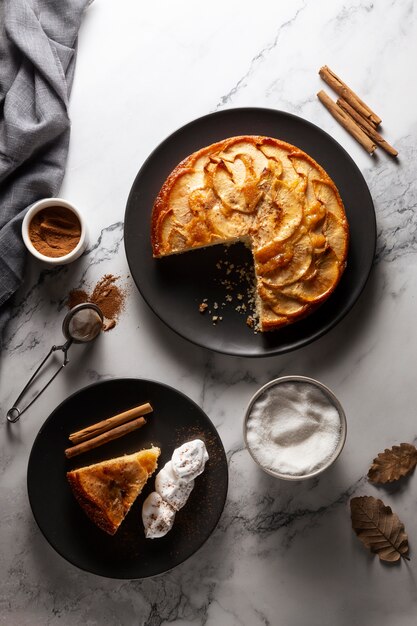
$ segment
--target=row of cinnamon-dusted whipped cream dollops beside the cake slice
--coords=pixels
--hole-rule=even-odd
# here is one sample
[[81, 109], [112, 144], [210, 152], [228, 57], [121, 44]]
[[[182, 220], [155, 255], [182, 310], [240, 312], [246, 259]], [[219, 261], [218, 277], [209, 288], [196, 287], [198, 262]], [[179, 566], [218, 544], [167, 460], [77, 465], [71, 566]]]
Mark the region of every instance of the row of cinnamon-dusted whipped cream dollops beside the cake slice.
[[172, 459], [155, 478], [155, 491], [142, 507], [142, 521], [147, 539], [166, 535], [174, 524], [175, 514], [186, 504], [194, 480], [204, 472], [209, 455], [204, 441], [187, 441], [174, 450]]

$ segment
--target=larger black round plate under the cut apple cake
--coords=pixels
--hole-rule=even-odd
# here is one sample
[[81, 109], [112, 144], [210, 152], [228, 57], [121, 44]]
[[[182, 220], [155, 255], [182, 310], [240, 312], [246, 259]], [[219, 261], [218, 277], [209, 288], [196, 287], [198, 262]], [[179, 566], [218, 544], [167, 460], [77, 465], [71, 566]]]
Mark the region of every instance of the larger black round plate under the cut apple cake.
[[[336, 183], [350, 226], [347, 268], [332, 296], [315, 313], [281, 330], [255, 334], [234, 307], [222, 310], [216, 326], [199, 314], [204, 298], [222, 303], [216, 263], [223, 246], [155, 260], [152, 258], [152, 206], [173, 168], [192, 152], [234, 135], [283, 139], [310, 154]], [[375, 211], [369, 189], [347, 152], [323, 130], [300, 117], [273, 109], [229, 109], [201, 117], [170, 135], [152, 152], [133, 183], [125, 215], [126, 256], [133, 279], [151, 309], [182, 337], [211, 350], [237, 356], [270, 356], [300, 348], [337, 324], [361, 294], [376, 244]], [[230, 262], [251, 260], [243, 245], [229, 248]]]

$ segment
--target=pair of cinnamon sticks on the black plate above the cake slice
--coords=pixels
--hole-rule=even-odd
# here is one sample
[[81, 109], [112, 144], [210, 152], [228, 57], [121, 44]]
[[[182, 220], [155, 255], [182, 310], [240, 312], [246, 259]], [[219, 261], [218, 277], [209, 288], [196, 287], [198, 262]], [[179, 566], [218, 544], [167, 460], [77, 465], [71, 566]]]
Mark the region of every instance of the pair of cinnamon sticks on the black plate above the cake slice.
[[65, 456], [70, 459], [141, 428], [146, 424], [142, 416], [152, 411], [152, 406], [147, 402], [71, 433], [69, 439], [75, 445], [65, 450]]

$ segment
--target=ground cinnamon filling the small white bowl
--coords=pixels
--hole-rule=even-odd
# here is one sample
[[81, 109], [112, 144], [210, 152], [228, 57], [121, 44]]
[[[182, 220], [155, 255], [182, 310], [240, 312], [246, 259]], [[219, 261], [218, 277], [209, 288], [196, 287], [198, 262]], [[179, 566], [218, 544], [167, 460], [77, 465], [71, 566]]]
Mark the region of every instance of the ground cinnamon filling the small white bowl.
[[32, 245], [47, 257], [66, 256], [77, 246], [80, 237], [80, 220], [66, 207], [46, 207], [36, 213], [29, 223]]

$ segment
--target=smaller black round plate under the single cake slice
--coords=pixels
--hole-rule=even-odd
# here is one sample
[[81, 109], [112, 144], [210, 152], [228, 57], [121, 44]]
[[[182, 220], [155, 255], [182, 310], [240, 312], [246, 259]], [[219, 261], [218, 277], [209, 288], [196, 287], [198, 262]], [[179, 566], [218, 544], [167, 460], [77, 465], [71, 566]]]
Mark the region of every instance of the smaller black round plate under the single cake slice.
[[[150, 402], [147, 424], [95, 450], [66, 459], [68, 435]], [[209, 453], [206, 469], [195, 481], [172, 530], [161, 539], [145, 539], [142, 503], [153, 491], [151, 477], [114, 536], [97, 528], [75, 500], [66, 472], [152, 444], [161, 448], [161, 468], [176, 447], [202, 439]], [[220, 437], [207, 415], [184, 394], [149, 380], [109, 380], [70, 396], [40, 429], [28, 465], [28, 494], [35, 520], [47, 541], [67, 561], [109, 578], [145, 578], [161, 574], [190, 557], [213, 532], [223, 511], [228, 469]]]

